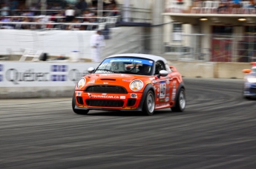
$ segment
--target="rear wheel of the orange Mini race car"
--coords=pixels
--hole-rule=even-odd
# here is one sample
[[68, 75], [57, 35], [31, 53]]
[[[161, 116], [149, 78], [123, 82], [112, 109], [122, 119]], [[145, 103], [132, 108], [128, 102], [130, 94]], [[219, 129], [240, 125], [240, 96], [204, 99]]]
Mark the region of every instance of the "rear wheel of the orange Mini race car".
[[182, 112], [186, 108], [186, 93], [185, 89], [181, 88], [175, 100], [175, 106], [171, 107], [171, 111]]

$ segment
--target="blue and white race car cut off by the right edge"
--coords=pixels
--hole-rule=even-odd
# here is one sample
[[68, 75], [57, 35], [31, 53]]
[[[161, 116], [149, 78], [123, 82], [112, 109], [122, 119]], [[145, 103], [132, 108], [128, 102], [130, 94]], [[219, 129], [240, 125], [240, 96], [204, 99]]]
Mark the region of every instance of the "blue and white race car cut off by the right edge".
[[256, 62], [252, 62], [252, 69], [243, 69], [244, 77], [243, 97], [251, 99], [256, 97]]

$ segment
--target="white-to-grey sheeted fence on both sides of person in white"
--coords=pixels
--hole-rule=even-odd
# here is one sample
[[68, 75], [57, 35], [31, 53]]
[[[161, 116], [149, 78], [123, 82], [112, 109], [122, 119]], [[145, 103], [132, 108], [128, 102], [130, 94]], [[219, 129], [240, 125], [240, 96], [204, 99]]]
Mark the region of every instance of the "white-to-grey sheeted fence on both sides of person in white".
[[[102, 59], [116, 53], [142, 51], [141, 32], [141, 27], [116, 27], [104, 31], [106, 46], [102, 49]], [[22, 61], [22, 55], [39, 58], [40, 53], [47, 53], [49, 57], [65, 56], [71, 61], [76, 52], [84, 61], [91, 59], [93, 34], [95, 31], [88, 30], [0, 30], [0, 60]]]

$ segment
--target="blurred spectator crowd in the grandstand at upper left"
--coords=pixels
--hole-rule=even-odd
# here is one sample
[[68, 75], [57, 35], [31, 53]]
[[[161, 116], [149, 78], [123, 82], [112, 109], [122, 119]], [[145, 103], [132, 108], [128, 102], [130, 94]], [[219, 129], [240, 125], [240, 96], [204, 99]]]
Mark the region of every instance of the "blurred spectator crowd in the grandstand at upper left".
[[[1, 4], [0, 28], [20, 30], [42, 30], [56, 28], [59, 30], [95, 30], [96, 24], [105, 22], [106, 17], [119, 15], [115, 0], [103, 1], [102, 17], [97, 15], [97, 0], [87, 3], [79, 0], [76, 4], [59, 4], [54, 2], [47, 4], [42, 10], [43, 4], [32, 4], [24, 7], [17, 0], [11, 0], [9, 4]], [[23, 24], [22, 24], [23, 23]], [[85, 24], [84, 24], [85, 23]]]

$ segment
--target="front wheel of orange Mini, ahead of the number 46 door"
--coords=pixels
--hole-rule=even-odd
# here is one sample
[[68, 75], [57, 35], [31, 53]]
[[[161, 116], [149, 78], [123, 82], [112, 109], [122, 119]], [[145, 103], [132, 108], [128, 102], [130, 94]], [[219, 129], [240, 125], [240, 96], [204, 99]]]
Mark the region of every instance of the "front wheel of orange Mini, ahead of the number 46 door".
[[145, 97], [142, 111], [145, 115], [151, 116], [154, 114], [154, 93], [150, 90]]

